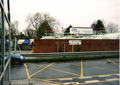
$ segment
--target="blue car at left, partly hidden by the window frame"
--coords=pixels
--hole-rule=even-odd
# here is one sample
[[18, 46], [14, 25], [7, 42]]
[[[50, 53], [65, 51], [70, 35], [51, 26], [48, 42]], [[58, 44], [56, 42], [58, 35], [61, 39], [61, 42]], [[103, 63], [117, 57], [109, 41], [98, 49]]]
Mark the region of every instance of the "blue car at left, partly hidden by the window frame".
[[[12, 65], [23, 65], [25, 58], [19, 54], [10, 54]], [[5, 55], [5, 62], [8, 60], [8, 55]]]

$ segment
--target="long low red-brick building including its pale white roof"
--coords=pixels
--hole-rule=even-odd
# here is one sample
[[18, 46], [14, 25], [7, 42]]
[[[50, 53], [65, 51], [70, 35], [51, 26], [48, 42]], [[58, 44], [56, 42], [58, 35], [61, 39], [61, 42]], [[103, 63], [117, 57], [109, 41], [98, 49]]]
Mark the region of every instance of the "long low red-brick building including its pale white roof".
[[34, 53], [116, 51], [119, 50], [119, 37], [119, 33], [89, 35], [80, 38], [45, 36], [34, 40]]

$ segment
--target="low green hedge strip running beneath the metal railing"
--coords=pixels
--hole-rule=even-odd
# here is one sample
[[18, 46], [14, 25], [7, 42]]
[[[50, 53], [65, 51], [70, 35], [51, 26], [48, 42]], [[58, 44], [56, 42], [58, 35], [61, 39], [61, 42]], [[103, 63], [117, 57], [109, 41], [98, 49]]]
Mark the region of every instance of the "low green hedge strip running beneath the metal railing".
[[39, 59], [25, 59], [25, 62], [66, 62], [73, 60], [95, 60], [105, 58], [117, 58], [119, 55], [105, 55], [105, 56], [71, 56], [71, 57], [52, 57], [52, 58], [39, 58]]

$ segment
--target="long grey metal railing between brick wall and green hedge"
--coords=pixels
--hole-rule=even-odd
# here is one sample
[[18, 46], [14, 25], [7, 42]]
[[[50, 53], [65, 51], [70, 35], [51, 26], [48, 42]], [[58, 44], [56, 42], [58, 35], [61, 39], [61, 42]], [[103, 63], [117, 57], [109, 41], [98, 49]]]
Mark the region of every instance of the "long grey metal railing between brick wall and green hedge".
[[119, 51], [90, 51], [90, 52], [60, 52], [60, 53], [30, 53], [21, 54], [24, 57], [58, 57], [58, 56], [97, 56], [119, 55]]

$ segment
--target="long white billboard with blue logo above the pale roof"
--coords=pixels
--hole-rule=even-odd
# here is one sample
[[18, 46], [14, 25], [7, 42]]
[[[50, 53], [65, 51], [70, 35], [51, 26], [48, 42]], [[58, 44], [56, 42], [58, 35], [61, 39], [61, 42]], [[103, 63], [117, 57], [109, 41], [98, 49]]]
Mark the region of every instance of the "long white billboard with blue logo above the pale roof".
[[92, 28], [70, 28], [70, 34], [93, 34]]

